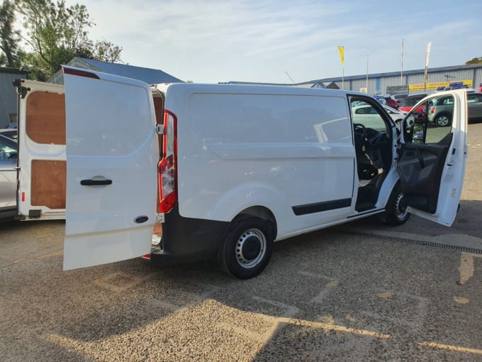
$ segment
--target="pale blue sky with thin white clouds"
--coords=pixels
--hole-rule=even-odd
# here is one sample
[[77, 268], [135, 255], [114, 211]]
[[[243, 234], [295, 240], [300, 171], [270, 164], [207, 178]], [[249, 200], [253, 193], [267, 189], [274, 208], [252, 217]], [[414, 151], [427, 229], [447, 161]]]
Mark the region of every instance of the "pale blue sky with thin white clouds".
[[[184, 81], [308, 82], [482, 57], [482, 0], [67, 0], [123, 62]], [[288, 77], [289, 75], [289, 77]], [[291, 77], [291, 79], [290, 79]]]

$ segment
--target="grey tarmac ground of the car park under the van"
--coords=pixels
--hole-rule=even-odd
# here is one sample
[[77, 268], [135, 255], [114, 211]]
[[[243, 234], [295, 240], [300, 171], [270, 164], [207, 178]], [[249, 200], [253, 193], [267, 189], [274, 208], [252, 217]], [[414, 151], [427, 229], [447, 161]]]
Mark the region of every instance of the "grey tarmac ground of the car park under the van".
[[62, 221], [0, 224], [1, 361], [482, 361], [482, 124], [447, 228], [275, 244], [257, 278], [140, 258], [62, 271]]

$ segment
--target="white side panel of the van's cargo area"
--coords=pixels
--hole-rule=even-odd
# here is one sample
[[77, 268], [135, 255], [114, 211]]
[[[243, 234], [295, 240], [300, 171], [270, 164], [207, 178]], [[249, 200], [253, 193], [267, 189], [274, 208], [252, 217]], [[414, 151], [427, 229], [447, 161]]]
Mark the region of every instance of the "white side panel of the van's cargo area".
[[267, 207], [278, 238], [351, 214], [347, 99], [313, 89], [226, 88], [168, 89], [166, 108], [178, 117], [179, 214], [231, 221], [247, 207]]

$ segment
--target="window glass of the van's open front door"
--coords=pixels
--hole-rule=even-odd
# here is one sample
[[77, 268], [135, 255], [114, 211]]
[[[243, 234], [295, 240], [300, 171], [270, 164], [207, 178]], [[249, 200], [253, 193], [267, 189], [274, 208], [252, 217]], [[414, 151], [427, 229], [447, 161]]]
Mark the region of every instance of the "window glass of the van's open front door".
[[454, 97], [435, 96], [414, 106], [403, 125], [405, 143], [439, 143], [452, 131]]

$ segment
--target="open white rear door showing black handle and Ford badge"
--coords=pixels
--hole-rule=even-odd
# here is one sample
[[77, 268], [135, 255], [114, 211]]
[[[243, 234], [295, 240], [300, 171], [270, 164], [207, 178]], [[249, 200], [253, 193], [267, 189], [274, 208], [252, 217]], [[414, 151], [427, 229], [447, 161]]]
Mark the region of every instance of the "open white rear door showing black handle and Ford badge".
[[150, 87], [64, 67], [64, 270], [150, 253], [159, 146]]

